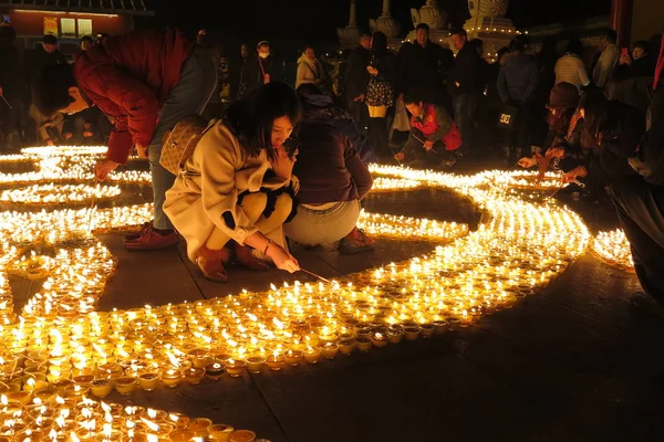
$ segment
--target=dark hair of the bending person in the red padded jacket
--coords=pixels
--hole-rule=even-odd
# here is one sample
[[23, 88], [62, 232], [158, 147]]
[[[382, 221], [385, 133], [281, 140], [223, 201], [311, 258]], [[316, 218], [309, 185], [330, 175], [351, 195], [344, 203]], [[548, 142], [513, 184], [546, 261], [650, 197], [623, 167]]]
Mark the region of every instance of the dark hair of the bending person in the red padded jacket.
[[72, 102], [69, 88], [76, 85], [74, 70], [69, 64], [46, 66], [32, 84], [34, 107], [52, 116]]

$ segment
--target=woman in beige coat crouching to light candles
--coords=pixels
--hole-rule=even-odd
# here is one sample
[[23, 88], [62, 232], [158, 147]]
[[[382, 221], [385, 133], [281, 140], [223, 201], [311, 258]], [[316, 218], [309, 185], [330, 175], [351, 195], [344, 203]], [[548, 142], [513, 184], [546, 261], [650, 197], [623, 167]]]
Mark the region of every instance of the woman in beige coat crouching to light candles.
[[286, 84], [255, 90], [206, 131], [166, 192], [164, 211], [207, 278], [228, 281], [225, 264], [234, 254], [253, 270], [267, 269], [266, 261], [300, 270], [281, 228], [298, 189], [294, 156], [283, 144], [300, 115], [300, 102]]

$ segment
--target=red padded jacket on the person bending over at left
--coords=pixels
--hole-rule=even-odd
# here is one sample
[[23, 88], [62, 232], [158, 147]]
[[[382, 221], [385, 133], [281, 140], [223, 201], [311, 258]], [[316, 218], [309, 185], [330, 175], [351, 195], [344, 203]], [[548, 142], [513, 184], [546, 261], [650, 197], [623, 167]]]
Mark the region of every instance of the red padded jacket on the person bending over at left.
[[179, 82], [191, 43], [174, 29], [111, 38], [76, 56], [79, 87], [115, 118], [106, 158], [124, 164], [135, 144], [148, 146], [162, 104]]

